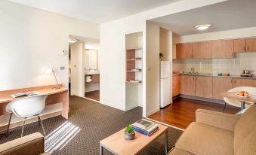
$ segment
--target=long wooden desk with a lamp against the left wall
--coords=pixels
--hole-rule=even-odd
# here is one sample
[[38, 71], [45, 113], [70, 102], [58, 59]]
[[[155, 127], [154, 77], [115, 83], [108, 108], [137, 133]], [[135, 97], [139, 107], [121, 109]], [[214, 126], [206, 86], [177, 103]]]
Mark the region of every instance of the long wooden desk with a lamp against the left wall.
[[17, 89], [17, 90], [5, 90], [0, 91], [0, 115], [8, 114], [5, 111], [6, 105], [8, 105], [9, 102], [14, 101], [15, 99], [19, 98], [13, 98], [11, 97], [11, 94], [14, 93], [20, 93], [20, 92], [29, 92], [29, 91], [38, 91], [40, 92], [40, 95], [48, 95], [48, 98], [46, 99], [46, 105], [52, 105], [55, 103], [62, 103], [62, 116], [66, 119], [69, 117], [69, 90], [65, 87], [63, 87], [62, 84], [59, 85], [60, 89], [54, 90], [53, 87], [56, 87], [56, 85], [50, 85], [50, 86], [43, 86], [43, 87], [31, 87], [31, 88], [23, 88], [23, 89]]

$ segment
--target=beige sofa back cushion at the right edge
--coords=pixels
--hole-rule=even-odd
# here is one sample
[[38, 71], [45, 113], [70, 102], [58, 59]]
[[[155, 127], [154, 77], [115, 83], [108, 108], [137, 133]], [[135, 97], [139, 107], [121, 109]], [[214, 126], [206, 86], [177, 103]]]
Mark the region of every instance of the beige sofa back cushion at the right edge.
[[256, 154], [256, 105], [252, 105], [236, 123], [234, 152], [236, 155]]

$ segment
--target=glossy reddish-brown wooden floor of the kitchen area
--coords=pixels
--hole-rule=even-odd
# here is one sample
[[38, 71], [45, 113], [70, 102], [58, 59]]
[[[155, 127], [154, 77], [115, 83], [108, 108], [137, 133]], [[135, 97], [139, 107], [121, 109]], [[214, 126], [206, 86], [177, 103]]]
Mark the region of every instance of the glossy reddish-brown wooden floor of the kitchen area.
[[[195, 111], [198, 108], [212, 111], [223, 111], [224, 105], [202, 102], [193, 99], [175, 99], [174, 103], [162, 108], [149, 118], [181, 129], [186, 129], [193, 121], [196, 120]], [[225, 113], [236, 114], [239, 108], [227, 105]]]

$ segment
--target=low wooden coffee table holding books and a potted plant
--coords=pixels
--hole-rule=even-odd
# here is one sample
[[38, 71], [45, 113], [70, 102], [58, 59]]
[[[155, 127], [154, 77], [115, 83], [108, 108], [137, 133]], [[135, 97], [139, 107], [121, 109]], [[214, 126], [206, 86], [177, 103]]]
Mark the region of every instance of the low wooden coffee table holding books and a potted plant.
[[165, 153], [168, 153], [168, 127], [157, 123], [159, 130], [153, 135], [147, 136], [139, 132], [135, 132], [135, 138], [133, 140], [125, 139], [125, 129], [121, 129], [119, 132], [110, 135], [100, 141], [100, 155], [103, 154], [103, 148], [109, 150], [113, 154], [119, 155], [132, 155], [140, 153], [144, 147], [151, 144], [160, 135], [165, 133]]

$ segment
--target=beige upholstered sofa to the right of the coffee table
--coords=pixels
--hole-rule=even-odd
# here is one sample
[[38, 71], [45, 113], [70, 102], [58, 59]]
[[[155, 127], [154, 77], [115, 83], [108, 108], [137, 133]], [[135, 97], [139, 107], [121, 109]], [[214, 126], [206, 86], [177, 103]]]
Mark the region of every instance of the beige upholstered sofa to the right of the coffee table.
[[242, 117], [198, 109], [168, 155], [254, 155], [256, 154], [256, 105]]

